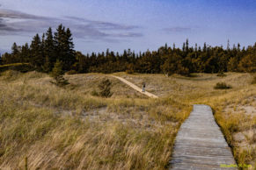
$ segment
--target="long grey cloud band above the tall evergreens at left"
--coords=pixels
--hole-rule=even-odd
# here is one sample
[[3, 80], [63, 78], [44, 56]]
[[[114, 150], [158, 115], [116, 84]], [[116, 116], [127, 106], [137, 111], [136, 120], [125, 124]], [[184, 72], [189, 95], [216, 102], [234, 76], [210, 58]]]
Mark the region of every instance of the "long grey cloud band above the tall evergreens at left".
[[56, 27], [60, 24], [69, 27], [74, 37], [80, 39], [118, 42], [121, 39], [143, 36], [142, 32], [137, 32], [140, 27], [136, 25], [121, 25], [77, 17], [48, 18], [0, 9], [0, 35], [46, 32], [49, 26]]

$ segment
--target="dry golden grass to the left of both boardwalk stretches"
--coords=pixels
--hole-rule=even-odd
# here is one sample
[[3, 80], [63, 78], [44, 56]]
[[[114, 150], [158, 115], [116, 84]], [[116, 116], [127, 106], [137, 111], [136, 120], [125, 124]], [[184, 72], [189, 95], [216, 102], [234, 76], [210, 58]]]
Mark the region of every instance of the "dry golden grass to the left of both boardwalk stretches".
[[112, 98], [91, 96], [105, 77], [69, 75], [61, 89], [47, 74], [5, 72], [0, 168], [23, 168], [27, 157], [30, 169], [164, 169], [190, 107], [137, 95], [113, 78]]

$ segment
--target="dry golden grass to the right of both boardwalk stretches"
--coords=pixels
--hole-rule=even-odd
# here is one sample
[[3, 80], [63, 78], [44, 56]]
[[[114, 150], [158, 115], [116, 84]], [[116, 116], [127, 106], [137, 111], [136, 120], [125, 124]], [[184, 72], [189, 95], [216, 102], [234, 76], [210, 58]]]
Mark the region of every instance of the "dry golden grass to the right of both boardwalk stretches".
[[[256, 86], [252, 74], [228, 73], [193, 74], [193, 77], [162, 74], [117, 75], [142, 86], [158, 96], [171, 97], [189, 105], [205, 103], [215, 111], [216, 122], [221, 126], [227, 142], [239, 164], [256, 168]], [[232, 89], [214, 89], [217, 82], [225, 82]]]

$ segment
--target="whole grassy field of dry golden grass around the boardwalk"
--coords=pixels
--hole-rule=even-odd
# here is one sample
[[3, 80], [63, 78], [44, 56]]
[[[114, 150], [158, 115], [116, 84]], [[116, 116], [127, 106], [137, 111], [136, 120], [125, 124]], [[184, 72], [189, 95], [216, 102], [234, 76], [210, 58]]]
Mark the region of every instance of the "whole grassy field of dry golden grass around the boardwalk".
[[[149, 99], [106, 74], [66, 75], [56, 87], [48, 74], [7, 71], [0, 76], [0, 169], [165, 169], [180, 124], [192, 104], [206, 103], [239, 163], [255, 166], [256, 90], [251, 74], [117, 73], [160, 96]], [[91, 96], [101, 80], [113, 96]], [[232, 89], [214, 89], [226, 82]]]

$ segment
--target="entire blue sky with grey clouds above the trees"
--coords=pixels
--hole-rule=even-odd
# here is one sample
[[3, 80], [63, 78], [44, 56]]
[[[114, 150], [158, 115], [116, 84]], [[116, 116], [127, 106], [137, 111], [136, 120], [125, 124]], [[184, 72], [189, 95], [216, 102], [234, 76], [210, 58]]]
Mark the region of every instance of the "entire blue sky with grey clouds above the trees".
[[63, 24], [76, 50], [157, 50], [165, 43], [242, 46], [256, 41], [255, 0], [0, 0], [0, 52]]

